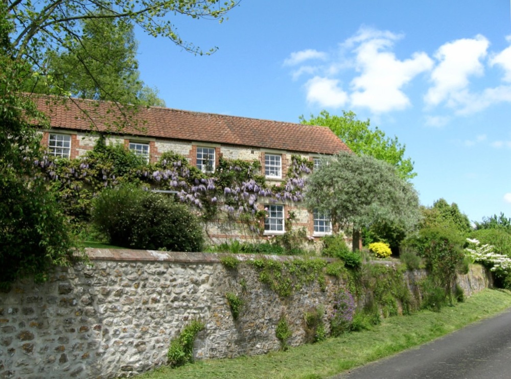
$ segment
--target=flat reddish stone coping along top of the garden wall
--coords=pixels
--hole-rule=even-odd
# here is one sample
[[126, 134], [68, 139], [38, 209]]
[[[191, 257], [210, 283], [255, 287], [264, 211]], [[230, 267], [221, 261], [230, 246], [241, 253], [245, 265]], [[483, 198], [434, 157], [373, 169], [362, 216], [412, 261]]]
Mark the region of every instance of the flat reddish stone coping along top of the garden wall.
[[[177, 252], [159, 250], [133, 250], [133, 249], [85, 249], [90, 260], [113, 260], [124, 262], [185, 262], [185, 263], [221, 263], [222, 256], [236, 256], [238, 260], [273, 259], [284, 262], [291, 259], [303, 259], [301, 256], [289, 255], [261, 255], [261, 254], [230, 254], [230, 253], [199, 253]], [[327, 262], [333, 262], [334, 258], [318, 257]]]

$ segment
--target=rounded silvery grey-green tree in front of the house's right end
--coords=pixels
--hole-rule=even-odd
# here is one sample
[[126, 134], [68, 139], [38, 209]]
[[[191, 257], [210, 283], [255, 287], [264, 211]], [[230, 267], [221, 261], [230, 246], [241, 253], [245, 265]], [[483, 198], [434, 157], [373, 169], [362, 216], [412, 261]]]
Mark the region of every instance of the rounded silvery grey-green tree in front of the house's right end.
[[384, 161], [368, 155], [340, 152], [325, 158], [308, 178], [307, 206], [330, 212], [332, 222], [353, 228], [353, 249], [360, 230], [377, 223], [408, 230], [419, 221], [419, 197], [411, 183]]

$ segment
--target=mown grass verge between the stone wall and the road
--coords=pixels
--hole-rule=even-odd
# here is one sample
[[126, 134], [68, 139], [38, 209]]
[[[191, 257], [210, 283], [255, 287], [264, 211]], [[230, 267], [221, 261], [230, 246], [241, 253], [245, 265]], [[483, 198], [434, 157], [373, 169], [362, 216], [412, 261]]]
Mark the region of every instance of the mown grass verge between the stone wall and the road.
[[511, 307], [511, 292], [484, 290], [439, 313], [417, 312], [385, 319], [372, 330], [271, 352], [264, 356], [203, 360], [171, 369], [164, 366], [141, 379], [167, 378], [300, 378], [318, 379], [388, 357], [451, 333]]

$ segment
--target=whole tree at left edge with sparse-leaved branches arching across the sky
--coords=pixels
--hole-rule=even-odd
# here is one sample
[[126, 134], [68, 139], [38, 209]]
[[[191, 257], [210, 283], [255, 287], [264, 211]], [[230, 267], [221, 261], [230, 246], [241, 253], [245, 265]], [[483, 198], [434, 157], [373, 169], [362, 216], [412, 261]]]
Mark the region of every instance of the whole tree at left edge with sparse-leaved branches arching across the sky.
[[[44, 128], [48, 120], [24, 93], [27, 83], [34, 76], [44, 76], [41, 83], [48, 86], [48, 92], [69, 95], [48, 75], [47, 58], [52, 54], [77, 54], [80, 46], [86, 45], [80, 20], [86, 23], [100, 18], [134, 22], [150, 35], [169, 37], [183, 49], [202, 54], [200, 48], [184, 42], [173, 23], [164, 18], [168, 14], [180, 14], [222, 20], [235, 5], [235, 1], [229, 0], [226, 3], [42, 0], [34, 4], [0, 1], [0, 282], [6, 285], [26, 274], [44, 279], [53, 264], [65, 265], [73, 257], [67, 221], [59, 211], [54, 194], [34, 170], [34, 163], [40, 158], [40, 137], [32, 125]], [[90, 70], [85, 71], [91, 74]], [[126, 121], [129, 122], [129, 117]]]

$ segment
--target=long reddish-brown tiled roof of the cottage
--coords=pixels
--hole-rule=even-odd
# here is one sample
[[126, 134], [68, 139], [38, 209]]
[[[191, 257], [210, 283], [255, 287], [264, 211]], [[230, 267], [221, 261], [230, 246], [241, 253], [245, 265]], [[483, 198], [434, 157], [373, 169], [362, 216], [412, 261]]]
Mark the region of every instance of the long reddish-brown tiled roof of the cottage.
[[[35, 100], [38, 108], [50, 117], [52, 128], [98, 130], [112, 134], [319, 154], [350, 151], [329, 128], [321, 126], [148, 107], [141, 108], [130, 122], [131, 125], [138, 125], [137, 129], [141, 130], [128, 126], [121, 132], [115, 132], [115, 127], [112, 127], [111, 123], [109, 127], [107, 120], [125, 119], [113, 103], [71, 99], [62, 104], [53, 102], [52, 98], [48, 97]], [[88, 112], [88, 116], [83, 110]]]

